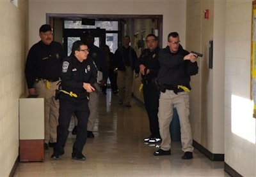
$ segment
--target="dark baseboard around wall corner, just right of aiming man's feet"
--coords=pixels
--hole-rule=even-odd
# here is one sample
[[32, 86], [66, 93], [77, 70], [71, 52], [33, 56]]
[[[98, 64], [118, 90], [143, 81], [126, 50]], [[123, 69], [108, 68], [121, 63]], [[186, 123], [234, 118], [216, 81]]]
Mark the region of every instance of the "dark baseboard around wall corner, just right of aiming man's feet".
[[224, 154], [222, 153], [211, 153], [209, 152], [209, 150], [204, 148], [204, 146], [200, 145], [195, 140], [193, 140], [193, 146], [212, 161], [224, 161]]

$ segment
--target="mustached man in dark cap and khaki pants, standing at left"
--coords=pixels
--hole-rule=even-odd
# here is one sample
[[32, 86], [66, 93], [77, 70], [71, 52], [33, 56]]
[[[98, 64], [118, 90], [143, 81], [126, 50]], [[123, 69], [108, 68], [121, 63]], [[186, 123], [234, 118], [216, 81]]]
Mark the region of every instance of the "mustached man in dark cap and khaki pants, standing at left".
[[29, 95], [44, 97], [45, 150], [57, 141], [56, 127], [59, 117], [59, 101], [54, 99], [60, 81], [61, 61], [65, 58], [63, 46], [53, 41], [50, 25], [39, 29], [41, 40], [33, 45], [26, 60], [25, 74]]

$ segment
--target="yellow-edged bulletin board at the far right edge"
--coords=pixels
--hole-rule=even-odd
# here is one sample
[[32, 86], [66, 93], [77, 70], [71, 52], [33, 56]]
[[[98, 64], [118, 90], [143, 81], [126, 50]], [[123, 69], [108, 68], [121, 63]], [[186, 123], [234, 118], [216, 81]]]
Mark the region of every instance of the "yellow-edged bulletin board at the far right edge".
[[251, 96], [253, 99], [253, 117], [256, 118], [256, 1], [252, 2], [252, 71], [251, 71]]

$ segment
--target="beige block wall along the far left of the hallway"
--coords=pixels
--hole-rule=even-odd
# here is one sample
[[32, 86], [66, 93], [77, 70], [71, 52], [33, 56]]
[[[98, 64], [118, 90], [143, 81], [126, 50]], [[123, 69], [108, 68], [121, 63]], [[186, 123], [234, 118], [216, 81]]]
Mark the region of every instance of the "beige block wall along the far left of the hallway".
[[8, 176], [19, 155], [19, 97], [24, 92], [28, 1], [0, 1], [0, 176]]

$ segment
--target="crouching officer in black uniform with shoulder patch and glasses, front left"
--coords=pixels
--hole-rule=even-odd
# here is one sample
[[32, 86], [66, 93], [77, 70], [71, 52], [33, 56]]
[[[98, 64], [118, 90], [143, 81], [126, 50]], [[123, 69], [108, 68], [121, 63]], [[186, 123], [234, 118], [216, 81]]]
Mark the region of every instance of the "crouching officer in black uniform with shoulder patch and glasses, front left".
[[57, 144], [51, 159], [57, 160], [63, 155], [68, 137], [70, 117], [74, 113], [77, 117], [77, 136], [72, 149], [72, 159], [85, 160], [83, 147], [87, 137], [87, 122], [90, 115], [88, 108], [88, 93], [95, 88], [97, 69], [92, 58], [88, 57], [88, 46], [82, 41], [74, 42], [72, 53], [62, 62], [60, 99], [60, 117], [57, 127]]

